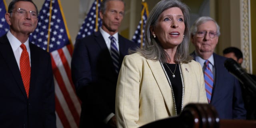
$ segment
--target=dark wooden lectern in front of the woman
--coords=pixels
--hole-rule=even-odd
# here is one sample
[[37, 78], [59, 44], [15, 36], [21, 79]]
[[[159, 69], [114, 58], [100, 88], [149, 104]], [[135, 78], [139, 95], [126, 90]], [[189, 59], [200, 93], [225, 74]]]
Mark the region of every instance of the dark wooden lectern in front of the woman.
[[210, 104], [188, 104], [179, 116], [157, 120], [140, 128], [256, 128], [256, 120], [220, 120]]

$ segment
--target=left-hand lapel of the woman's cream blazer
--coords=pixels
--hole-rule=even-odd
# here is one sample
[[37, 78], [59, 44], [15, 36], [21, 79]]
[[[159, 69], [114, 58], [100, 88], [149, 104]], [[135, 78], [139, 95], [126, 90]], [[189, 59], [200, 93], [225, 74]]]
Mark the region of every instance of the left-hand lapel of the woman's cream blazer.
[[147, 60], [147, 62], [152, 71], [152, 74], [156, 80], [156, 83], [158, 84], [158, 87], [162, 93], [164, 102], [165, 102], [170, 114], [175, 115], [171, 88], [170, 88], [168, 80], [164, 74], [164, 71], [162, 70], [162, 66], [161, 66], [160, 62], [153, 61], [153, 60]]

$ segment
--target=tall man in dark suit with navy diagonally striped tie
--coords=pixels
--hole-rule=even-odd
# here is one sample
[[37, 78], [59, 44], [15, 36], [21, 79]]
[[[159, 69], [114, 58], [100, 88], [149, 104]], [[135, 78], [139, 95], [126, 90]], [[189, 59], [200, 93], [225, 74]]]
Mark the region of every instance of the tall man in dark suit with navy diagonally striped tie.
[[136, 47], [118, 34], [123, 17], [123, 0], [103, 0], [100, 31], [76, 41], [71, 70], [76, 93], [82, 101], [80, 128], [116, 127], [118, 72], [128, 49]]

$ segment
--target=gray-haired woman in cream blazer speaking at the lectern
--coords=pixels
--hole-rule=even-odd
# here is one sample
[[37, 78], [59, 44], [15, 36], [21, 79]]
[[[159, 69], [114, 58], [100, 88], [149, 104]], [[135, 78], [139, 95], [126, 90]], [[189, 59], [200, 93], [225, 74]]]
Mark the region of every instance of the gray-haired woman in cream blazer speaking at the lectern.
[[138, 128], [176, 116], [188, 103], [208, 103], [202, 67], [188, 53], [188, 22], [188, 7], [179, 0], [161, 0], [150, 12], [145, 46], [124, 57], [118, 76], [118, 128]]

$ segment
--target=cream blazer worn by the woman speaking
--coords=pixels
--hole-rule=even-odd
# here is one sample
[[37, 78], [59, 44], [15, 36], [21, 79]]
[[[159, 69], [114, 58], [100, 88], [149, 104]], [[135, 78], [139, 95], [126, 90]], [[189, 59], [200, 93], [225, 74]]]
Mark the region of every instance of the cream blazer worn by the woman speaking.
[[[208, 103], [200, 64], [192, 60], [181, 64], [181, 70], [183, 106], [192, 102]], [[138, 128], [174, 115], [171, 88], [160, 62], [147, 60], [138, 52], [125, 56], [116, 86], [118, 128]]]

